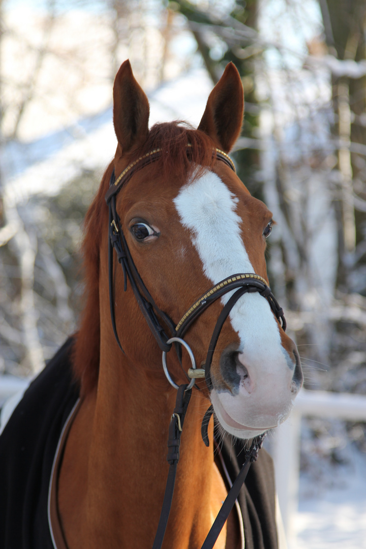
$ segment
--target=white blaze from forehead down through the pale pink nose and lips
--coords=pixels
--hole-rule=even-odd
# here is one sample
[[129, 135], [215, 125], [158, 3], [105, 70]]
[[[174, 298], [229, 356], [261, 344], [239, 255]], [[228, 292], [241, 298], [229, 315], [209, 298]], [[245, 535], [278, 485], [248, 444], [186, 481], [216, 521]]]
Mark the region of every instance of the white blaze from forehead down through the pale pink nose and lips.
[[[184, 186], [174, 199], [182, 225], [190, 230], [204, 273], [212, 285], [236, 273], [254, 272], [243, 243], [238, 202], [238, 197], [218, 175], [208, 170]], [[252, 237], [258, 235], [248, 234], [244, 239]], [[222, 296], [223, 304], [234, 291]], [[288, 416], [292, 361], [281, 344], [271, 307], [260, 294], [241, 296], [229, 319], [239, 335], [238, 358], [246, 369], [237, 368], [241, 382], [234, 392], [221, 389], [214, 381], [211, 401], [229, 433], [250, 438]]]

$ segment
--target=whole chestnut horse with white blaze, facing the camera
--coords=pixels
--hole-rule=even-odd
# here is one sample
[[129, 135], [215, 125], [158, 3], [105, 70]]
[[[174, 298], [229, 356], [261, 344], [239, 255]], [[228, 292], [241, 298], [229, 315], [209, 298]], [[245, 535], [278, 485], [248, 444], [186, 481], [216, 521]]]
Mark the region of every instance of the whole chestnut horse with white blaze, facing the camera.
[[[153, 546], [169, 467], [174, 384], [187, 384], [188, 372], [195, 375], [192, 359], [177, 345], [165, 354], [168, 381], [161, 365], [161, 349], [171, 347], [165, 333], [182, 334], [184, 324], [185, 344], [204, 376], [212, 333], [233, 295], [235, 275], [240, 284], [245, 277], [254, 285], [258, 281], [260, 292], [243, 293], [229, 307], [206, 379], [196, 379], [163, 544], [199, 549], [228, 492], [224, 466], [215, 460], [212, 419], [210, 444], [202, 442], [207, 408], [213, 405], [224, 432], [252, 439], [289, 416], [302, 384], [301, 366], [279, 321], [281, 312], [276, 316], [268, 301], [264, 253], [272, 214], [251, 197], [227, 156], [243, 120], [237, 69], [227, 66], [197, 130], [179, 122], [149, 130], [148, 99], [128, 61], [116, 76], [113, 97], [118, 144], [86, 218], [87, 301], [67, 351], [80, 397], [63, 420], [53, 463], [48, 496], [53, 547]], [[111, 214], [105, 195], [114, 203]], [[109, 251], [110, 242], [117, 253]], [[220, 293], [225, 285], [230, 292]], [[215, 292], [220, 299], [210, 301]], [[248, 490], [271, 494], [266, 506], [274, 516], [273, 473], [264, 450], [252, 469], [264, 476], [256, 473]], [[244, 528], [245, 547], [264, 548], [266, 536], [258, 532], [266, 526], [258, 526], [261, 518], [254, 524], [254, 507], [248, 503], [252, 524]], [[234, 509], [216, 549], [243, 546], [240, 521]], [[268, 547], [277, 547], [275, 535]]]

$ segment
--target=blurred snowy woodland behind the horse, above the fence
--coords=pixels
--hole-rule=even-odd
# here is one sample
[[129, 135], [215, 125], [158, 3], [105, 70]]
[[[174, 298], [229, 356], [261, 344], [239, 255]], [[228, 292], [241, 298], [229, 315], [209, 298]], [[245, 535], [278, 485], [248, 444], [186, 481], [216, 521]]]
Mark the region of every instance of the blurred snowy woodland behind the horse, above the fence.
[[306, 384], [364, 393], [363, 0], [3, 0], [0, 10], [0, 370], [37, 371], [76, 329], [82, 219], [114, 152], [120, 63], [153, 93], [200, 67], [216, 83], [233, 61], [246, 103], [233, 157], [278, 223], [269, 278]]

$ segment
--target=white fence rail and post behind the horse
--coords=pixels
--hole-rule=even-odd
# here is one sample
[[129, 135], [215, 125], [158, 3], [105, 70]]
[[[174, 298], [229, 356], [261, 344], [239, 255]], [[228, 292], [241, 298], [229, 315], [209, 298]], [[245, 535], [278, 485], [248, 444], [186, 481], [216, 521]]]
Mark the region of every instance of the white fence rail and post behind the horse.
[[[29, 379], [0, 376], [0, 406], [19, 391]], [[291, 536], [291, 518], [299, 503], [301, 417], [339, 418], [366, 422], [366, 396], [302, 390], [295, 400], [291, 417], [275, 429], [273, 458], [278, 499], [288, 536]]]

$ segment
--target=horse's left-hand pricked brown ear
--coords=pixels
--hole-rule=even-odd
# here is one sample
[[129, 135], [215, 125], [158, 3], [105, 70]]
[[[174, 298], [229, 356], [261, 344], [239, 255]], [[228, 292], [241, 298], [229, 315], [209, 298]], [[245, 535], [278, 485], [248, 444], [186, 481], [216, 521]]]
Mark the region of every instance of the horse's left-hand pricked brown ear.
[[120, 66], [113, 86], [113, 124], [121, 154], [146, 141], [149, 111], [148, 98], [134, 78], [127, 59]]

